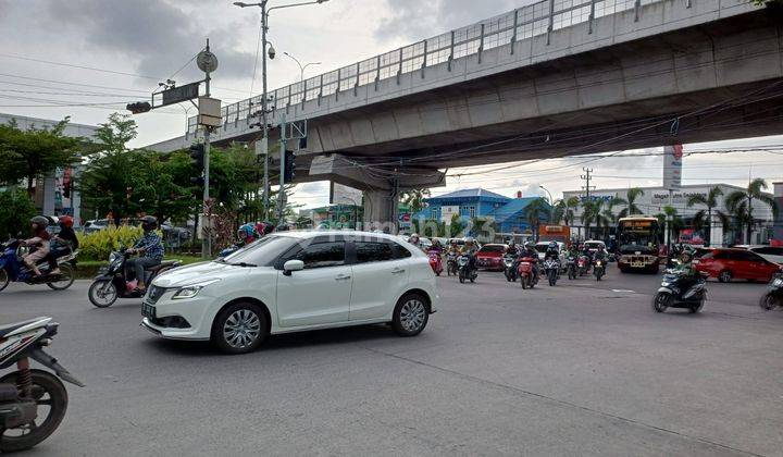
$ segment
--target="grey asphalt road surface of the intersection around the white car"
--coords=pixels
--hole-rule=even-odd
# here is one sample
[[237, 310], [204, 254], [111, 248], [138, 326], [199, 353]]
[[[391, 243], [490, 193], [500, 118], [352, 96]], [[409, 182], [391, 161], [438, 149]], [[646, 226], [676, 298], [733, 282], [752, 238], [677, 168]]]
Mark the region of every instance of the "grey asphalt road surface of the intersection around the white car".
[[87, 384], [29, 455], [783, 455], [783, 312], [757, 307], [760, 284], [657, 314], [652, 275], [443, 277], [415, 338], [324, 331], [233, 357], [154, 337], [137, 301], [94, 308], [88, 284], [0, 293], [0, 322], [61, 323], [50, 353]]

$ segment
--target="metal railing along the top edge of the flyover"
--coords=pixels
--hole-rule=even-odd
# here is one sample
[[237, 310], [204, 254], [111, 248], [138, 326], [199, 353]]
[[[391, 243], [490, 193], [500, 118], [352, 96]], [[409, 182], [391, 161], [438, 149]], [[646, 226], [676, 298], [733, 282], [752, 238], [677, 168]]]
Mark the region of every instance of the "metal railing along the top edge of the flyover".
[[[480, 23], [458, 28], [449, 33], [428, 38], [397, 50], [353, 63], [335, 71], [323, 73], [270, 91], [272, 119], [282, 110], [309, 100], [320, 100], [327, 96], [339, 98], [341, 92], [357, 92], [359, 86], [377, 84], [384, 79], [399, 78], [407, 73], [424, 72], [428, 66], [456, 59], [482, 53], [488, 49], [515, 41], [546, 35], [571, 25], [592, 22], [596, 17], [607, 16], [622, 11], [638, 11], [644, 4], [662, 0], [545, 0], [519, 8]], [[513, 46], [511, 51], [513, 52]], [[238, 126], [247, 121], [253, 111], [261, 109], [261, 96], [228, 104], [222, 109], [223, 125]], [[188, 122], [188, 135], [196, 132], [196, 119]]]

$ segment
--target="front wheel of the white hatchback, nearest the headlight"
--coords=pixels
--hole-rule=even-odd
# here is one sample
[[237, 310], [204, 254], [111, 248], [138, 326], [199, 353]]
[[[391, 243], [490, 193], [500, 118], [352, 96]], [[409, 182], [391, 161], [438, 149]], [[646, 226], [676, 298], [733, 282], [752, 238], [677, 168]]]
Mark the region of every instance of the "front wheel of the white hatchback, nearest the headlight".
[[227, 354], [256, 350], [266, 338], [266, 316], [258, 305], [236, 302], [215, 318], [212, 341]]

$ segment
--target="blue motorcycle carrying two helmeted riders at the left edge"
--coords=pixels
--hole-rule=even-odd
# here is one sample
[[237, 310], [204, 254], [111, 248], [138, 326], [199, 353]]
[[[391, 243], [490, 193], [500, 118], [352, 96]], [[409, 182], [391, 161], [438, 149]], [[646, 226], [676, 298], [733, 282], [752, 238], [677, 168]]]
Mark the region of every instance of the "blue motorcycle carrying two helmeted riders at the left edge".
[[57, 259], [60, 274], [49, 274], [49, 264], [46, 261], [40, 263], [40, 276], [36, 276], [33, 270], [22, 262], [22, 250], [18, 239], [0, 244], [0, 291], [8, 287], [12, 282], [25, 283], [28, 285], [46, 284], [54, 291], [64, 291], [71, 287], [76, 275], [72, 262], [76, 259], [76, 251], [70, 251], [66, 256]]

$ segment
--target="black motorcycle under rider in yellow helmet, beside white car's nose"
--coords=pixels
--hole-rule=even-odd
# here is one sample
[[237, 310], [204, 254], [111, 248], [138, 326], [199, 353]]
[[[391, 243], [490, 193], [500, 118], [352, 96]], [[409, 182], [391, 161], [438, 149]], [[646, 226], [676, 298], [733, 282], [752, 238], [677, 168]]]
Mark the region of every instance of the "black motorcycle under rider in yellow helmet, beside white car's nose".
[[[92, 305], [108, 308], [114, 305], [117, 298], [141, 298], [142, 294], [136, 291], [138, 280], [130, 280], [125, 275], [125, 265], [132, 256], [126, 248], [109, 255], [109, 268], [92, 281], [87, 293]], [[145, 284], [150, 284], [157, 275], [179, 265], [182, 262], [178, 260], [165, 260], [148, 268], [145, 270]]]

